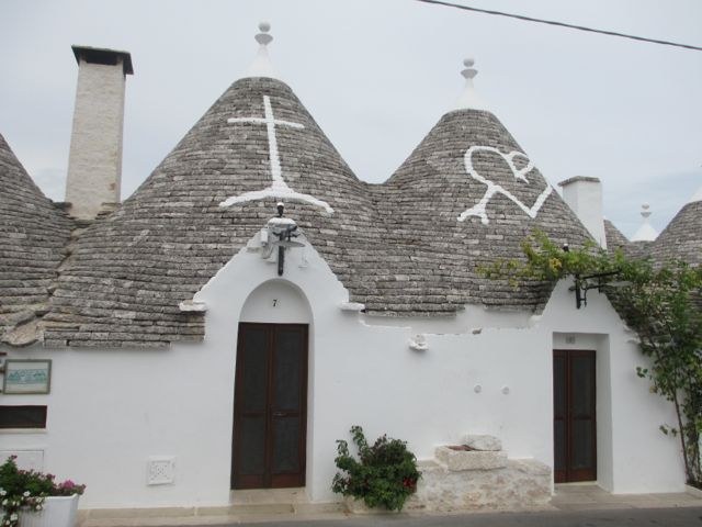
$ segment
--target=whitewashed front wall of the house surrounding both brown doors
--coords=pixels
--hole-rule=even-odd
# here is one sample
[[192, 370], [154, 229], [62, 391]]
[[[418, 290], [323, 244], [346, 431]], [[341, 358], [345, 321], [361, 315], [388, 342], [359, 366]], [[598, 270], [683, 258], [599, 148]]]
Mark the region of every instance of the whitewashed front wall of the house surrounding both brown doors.
[[[556, 288], [541, 317], [469, 309], [455, 319], [385, 319], [342, 311], [347, 291], [309, 247], [304, 258], [302, 249], [288, 254], [282, 280], [274, 264], [244, 249], [196, 295], [208, 307], [204, 344], [5, 348], [11, 358], [54, 362], [49, 395], [0, 396], [2, 404], [47, 404], [46, 430], [3, 431], [0, 451], [43, 451], [45, 470], [88, 484], [83, 508], [225, 505], [237, 325], [298, 322], [310, 324], [307, 493], [314, 501], [336, 498], [335, 440], [348, 439], [354, 424], [371, 438], [387, 433], [408, 440], [420, 459], [473, 433], [500, 437], [510, 457], [552, 464], [554, 347], [597, 349], [600, 485], [618, 493], [681, 491], [678, 445], [658, 430], [672, 413], [636, 378], [643, 358], [632, 335], [595, 292], [576, 310], [568, 285]], [[418, 333], [426, 334], [426, 351], [408, 346]], [[174, 458], [172, 484], [146, 484], [155, 456]]]

